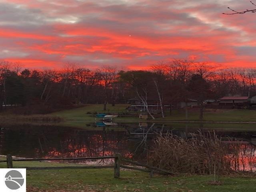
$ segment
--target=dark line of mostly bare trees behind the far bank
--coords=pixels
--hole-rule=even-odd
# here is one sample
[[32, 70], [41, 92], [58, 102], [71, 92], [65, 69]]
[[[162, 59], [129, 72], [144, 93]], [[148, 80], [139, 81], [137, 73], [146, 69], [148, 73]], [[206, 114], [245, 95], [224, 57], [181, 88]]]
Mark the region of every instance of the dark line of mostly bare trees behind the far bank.
[[256, 68], [222, 68], [174, 59], [159, 62], [150, 70], [120, 70], [116, 66], [92, 70], [76, 64], [66, 64], [60, 70], [31, 70], [0, 60], [0, 110], [18, 105], [27, 113], [46, 113], [89, 103], [102, 104], [106, 110], [107, 103], [114, 106], [137, 98], [150, 115], [149, 100], [158, 100], [164, 117], [162, 106], [166, 104], [195, 99], [203, 108], [206, 99], [249, 94], [256, 94]]

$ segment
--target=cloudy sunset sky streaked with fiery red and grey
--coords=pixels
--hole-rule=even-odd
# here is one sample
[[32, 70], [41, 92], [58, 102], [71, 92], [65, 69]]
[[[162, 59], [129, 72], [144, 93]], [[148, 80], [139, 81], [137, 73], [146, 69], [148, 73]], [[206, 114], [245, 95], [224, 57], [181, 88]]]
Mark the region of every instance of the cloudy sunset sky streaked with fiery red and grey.
[[223, 15], [228, 6], [256, 8], [249, 0], [0, 0], [0, 59], [26, 68], [139, 70], [173, 58], [254, 67], [256, 13]]

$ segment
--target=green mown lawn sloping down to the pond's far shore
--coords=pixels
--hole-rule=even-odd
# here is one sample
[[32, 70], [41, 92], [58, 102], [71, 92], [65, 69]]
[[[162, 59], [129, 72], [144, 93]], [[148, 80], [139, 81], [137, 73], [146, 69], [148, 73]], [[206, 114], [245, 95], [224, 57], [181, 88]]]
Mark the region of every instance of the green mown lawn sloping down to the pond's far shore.
[[[116, 106], [107, 105], [105, 112], [115, 113], [115, 112], [126, 112], [126, 107], [128, 104], [116, 104]], [[94, 112], [104, 112], [103, 104], [88, 104], [81, 108], [75, 108], [70, 110], [63, 110], [60, 112], [54, 112], [50, 115], [58, 116], [66, 120], [84, 120], [84, 121], [97, 121], [100, 118], [96, 118]], [[91, 113], [91, 114], [88, 114]], [[139, 112], [135, 112], [139, 114]], [[185, 121], [184, 110], [173, 110], [172, 115], [169, 111], [166, 111], [165, 118], [156, 118], [156, 120], [150, 120], [155, 122], [165, 122], [165, 121]], [[199, 110], [190, 109], [188, 111], [188, 120], [198, 121], [199, 120]], [[256, 122], [256, 110], [246, 110], [246, 109], [218, 109], [216, 112], [210, 111], [209, 109], [204, 112], [204, 121], [242, 121], [242, 122]], [[115, 119], [116, 122], [138, 122], [145, 121], [137, 117], [118, 117]]]

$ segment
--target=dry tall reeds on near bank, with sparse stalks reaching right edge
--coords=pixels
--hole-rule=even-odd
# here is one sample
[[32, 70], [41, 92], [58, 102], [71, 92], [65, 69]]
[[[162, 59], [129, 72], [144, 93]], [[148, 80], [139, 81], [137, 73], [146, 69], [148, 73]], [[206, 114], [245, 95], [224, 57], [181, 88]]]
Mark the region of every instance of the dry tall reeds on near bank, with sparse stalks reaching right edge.
[[236, 141], [222, 142], [215, 132], [194, 134], [186, 139], [174, 134], [159, 135], [150, 152], [150, 163], [176, 173], [211, 174], [253, 171], [255, 146]]

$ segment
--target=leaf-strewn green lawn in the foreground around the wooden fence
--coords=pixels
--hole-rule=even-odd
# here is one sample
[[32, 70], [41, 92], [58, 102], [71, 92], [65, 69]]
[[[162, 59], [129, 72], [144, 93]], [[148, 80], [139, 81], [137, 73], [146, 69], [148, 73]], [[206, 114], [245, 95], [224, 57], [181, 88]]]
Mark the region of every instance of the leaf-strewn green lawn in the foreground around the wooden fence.
[[[65, 166], [45, 162], [14, 162], [14, 167]], [[0, 163], [0, 168], [6, 168]], [[28, 191], [77, 192], [254, 192], [256, 178], [221, 177], [221, 185], [212, 185], [212, 176], [159, 176], [121, 170], [119, 179], [113, 178], [112, 169], [91, 170], [28, 170]]]

